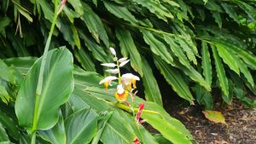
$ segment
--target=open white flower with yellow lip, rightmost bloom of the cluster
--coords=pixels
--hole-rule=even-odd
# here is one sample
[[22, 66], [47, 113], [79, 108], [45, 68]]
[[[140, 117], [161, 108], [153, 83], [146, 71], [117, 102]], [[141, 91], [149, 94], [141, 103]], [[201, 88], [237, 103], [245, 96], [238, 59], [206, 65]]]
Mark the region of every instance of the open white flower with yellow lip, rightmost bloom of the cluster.
[[140, 78], [133, 75], [132, 73], [125, 73], [122, 75], [122, 84], [124, 84], [125, 88], [129, 90], [131, 90], [131, 84], [133, 88], [136, 89], [137, 88], [136, 81], [139, 81], [139, 80]]

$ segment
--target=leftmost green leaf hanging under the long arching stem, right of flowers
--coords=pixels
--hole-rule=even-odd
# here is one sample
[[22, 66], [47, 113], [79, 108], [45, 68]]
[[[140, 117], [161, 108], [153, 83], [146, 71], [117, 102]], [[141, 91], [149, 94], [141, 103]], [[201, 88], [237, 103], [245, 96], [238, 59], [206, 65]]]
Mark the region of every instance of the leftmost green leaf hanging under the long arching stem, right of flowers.
[[148, 43], [152, 52], [155, 55], [160, 55], [160, 57], [163, 60], [165, 60], [169, 64], [172, 64], [172, 66], [174, 66], [172, 55], [170, 55], [170, 53], [166, 49], [165, 44], [161, 43], [158, 39], [156, 39], [151, 32], [143, 29], [141, 29], [140, 31], [143, 32], [144, 41]]

